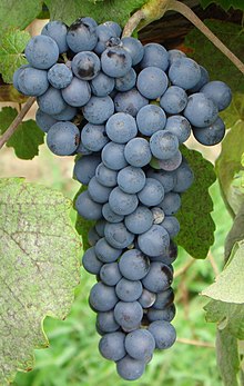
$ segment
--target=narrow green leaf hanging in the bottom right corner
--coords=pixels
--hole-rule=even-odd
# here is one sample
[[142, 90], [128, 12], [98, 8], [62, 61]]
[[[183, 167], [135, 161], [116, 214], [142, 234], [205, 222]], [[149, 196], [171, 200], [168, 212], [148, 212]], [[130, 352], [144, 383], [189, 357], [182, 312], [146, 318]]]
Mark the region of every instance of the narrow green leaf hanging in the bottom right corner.
[[236, 377], [240, 370], [237, 339], [226, 329], [216, 333], [216, 356], [224, 385], [238, 386]]

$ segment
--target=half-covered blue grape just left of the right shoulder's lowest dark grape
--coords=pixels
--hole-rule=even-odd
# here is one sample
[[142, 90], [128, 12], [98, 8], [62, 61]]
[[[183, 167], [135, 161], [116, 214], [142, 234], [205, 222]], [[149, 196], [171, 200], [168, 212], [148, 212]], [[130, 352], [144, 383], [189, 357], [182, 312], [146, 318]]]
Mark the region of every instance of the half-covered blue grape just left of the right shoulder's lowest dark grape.
[[191, 125], [182, 116], [171, 116], [166, 120], [165, 130], [175, 135], [179, 143], [183, 143], [191, 135]]

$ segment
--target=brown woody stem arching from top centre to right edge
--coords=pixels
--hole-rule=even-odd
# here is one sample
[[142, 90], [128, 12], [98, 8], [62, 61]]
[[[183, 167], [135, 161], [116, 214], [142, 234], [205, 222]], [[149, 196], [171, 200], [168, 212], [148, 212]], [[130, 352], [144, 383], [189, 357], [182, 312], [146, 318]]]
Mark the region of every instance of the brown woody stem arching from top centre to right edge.
[[135, 29], [141, 30], [153, 20], [161, 19], [166, 11], [176, 11], [183, 14], [244, 73], [244, 63], [204, 24], [190, 7], [177, 0], [151, 0], [129, 19], [123, 36], [131, 36]]

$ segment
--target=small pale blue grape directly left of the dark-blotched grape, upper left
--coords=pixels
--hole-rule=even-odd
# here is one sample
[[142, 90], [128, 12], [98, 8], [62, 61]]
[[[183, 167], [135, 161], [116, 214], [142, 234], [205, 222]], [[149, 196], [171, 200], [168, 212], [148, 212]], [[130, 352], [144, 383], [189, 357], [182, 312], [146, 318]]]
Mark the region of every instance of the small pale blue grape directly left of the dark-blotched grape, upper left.
[[57, 89], [64, 89], [72, 79], [72, 71], [63, 63], [57, 63], [48, 71], [48, 80]]

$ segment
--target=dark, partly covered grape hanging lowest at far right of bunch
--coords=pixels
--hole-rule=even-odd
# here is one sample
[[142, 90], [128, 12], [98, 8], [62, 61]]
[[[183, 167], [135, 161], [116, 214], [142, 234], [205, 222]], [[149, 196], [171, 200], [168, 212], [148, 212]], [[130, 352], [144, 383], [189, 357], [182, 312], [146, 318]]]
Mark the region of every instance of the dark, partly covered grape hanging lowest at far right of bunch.
[[225, 135], [225, 125], [218, 117], [211, 126], [203, 129], [193, 128], [195, 139], [205, 146], [214, 146], [222, 141]]

